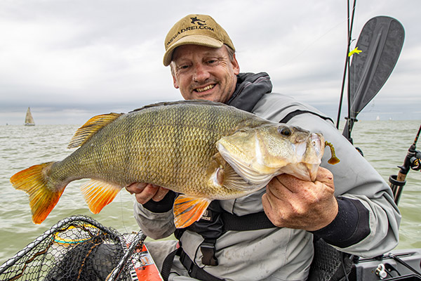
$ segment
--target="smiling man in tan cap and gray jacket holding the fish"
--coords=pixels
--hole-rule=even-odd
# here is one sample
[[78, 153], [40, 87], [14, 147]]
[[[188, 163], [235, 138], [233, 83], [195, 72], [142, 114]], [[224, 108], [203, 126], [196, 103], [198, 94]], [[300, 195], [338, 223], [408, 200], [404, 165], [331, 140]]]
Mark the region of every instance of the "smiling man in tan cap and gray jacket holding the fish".
[[160, 269], [168, 256], [163, 266], [172, 266], [168, 280], [306, 280], [314, 236], [359, 256], [377, 256], [396, 246], [400, 214], [389, 186], [328, 117], [271, 93], [266, 73], [240, 73], [234, 44], [208, 15], [182, 18], [168, 32], [165, 47], [163, 64], [171, 65], [183, 98], [219, 101], [319, 131], [341, 159], [333, 166], [323, 157], [325, 168], [319, 168], [314, 182], [282, 174], [266, 189], [213, 202], [208, 216], [187, 230], [175, 230], [174, 192], [147, 183], [128, 186], [138, 202], [135, 218], [142, 231], [154, 239], [175, 231], [180, 240], [180, 257], [174, 259], [168, 254], [175, 242], [150, 243]]

